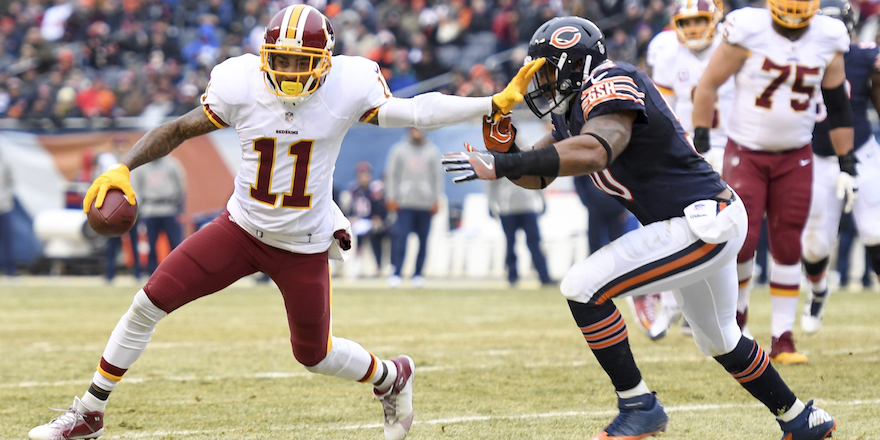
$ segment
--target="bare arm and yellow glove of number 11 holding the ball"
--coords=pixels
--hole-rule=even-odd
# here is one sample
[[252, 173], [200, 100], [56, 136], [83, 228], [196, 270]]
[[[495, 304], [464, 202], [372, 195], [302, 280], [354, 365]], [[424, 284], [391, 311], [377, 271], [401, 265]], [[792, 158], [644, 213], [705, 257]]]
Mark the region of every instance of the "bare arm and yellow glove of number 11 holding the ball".
[[217, 128], [208, 119], [202, 107], [198, 107], [171, 122], [148, 131], [125, 154], [121, 163], [111, 165], [92, 182], [83, 198], [83, 211], [89, 212], [92, 200], [95, 200], [96, 207], [103, 206], [104, 197], [111, 188], [122, 190], [128, 196], [129, 203], [134, 205], [135, 193], [131, 187], [130, 170], [167, 155], [187, 139], [210, 133]]

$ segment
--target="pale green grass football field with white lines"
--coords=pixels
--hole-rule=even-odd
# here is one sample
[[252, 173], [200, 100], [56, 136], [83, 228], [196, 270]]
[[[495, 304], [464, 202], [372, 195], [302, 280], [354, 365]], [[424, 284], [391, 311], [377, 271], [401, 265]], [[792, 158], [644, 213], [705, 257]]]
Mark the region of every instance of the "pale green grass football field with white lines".
[[[423, 290], [341, 283], [334, 334], [416, 362], [412, 439], [587, 439], [616, 414], [609, 380], [552, 289], [429, 280]], [[0, 284], [0, 440], [67, 408], [91, 380], [137, 287], [99, 281]], [[778, 439], [778, 425], [677, 327], [651, 342], [627, 317], [648, 386], [670, 413], [659, 439]], [[769, 296], [750, 328], [769, 347]], [[880, 438], [880, 295], [832, 297], [810, 357], [777, 366], [798, 396], [838, 421], [835, 439]], [[159, 324], [114, 391], [106, 439], [382, 439], [370, 387], [308, 373], [290, 352], [274, 286], [230, 287]]]

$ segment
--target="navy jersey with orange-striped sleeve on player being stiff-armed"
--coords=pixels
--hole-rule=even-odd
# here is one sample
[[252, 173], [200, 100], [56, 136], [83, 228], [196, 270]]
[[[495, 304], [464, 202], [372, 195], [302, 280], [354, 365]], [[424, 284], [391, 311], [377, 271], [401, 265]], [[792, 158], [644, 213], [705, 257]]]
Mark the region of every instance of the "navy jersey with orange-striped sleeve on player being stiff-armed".
[[569, 116], [552, 114], [553, 137], [577, 135], [588, 118], [623, 110], [638, 112], [629, 145], [608, 168], [590, 177], [639, 222], [681, 217], [691, 203], [726, 188], [694, 150], [660, 91], [631, 64], [609, 63], [595, 71], [575, 97]]

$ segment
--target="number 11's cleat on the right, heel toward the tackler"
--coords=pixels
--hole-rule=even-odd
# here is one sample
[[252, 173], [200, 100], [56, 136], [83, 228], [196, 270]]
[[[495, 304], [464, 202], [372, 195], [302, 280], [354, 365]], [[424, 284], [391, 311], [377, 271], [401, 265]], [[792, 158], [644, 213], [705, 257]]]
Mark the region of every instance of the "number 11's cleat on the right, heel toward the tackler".
[[376, 400], [382, 402], [385, 413], [385, 440], [403, 440], [412, 427], [412, 389], [415, 363], [406, 355], [391, 360], [397, 366], [397, 379], [384, 393], [373, 388]]

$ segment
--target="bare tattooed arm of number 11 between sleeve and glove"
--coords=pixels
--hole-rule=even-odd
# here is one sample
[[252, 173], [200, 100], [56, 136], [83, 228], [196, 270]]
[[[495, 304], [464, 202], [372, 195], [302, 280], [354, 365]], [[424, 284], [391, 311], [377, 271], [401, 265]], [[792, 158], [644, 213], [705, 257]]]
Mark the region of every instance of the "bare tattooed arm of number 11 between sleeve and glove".
[[199, 106], [189, 113], [166, 122], [145, 134], [131, 151], [125, 154], [122, 163], [129, 169], [135, 169], [147, 162], [171, 153], [183, 141], [217, 130], [218, 127], [208, 119]]

